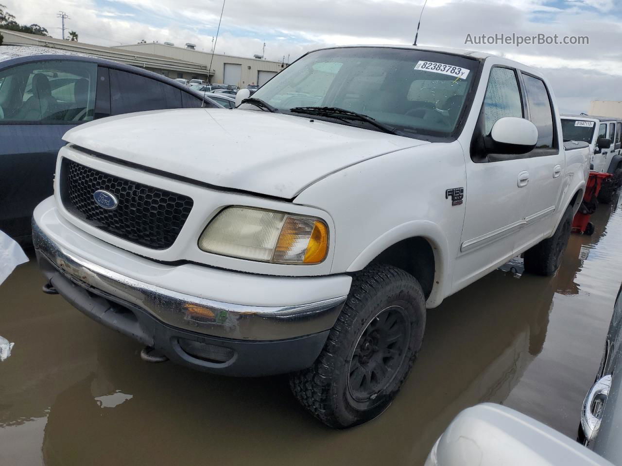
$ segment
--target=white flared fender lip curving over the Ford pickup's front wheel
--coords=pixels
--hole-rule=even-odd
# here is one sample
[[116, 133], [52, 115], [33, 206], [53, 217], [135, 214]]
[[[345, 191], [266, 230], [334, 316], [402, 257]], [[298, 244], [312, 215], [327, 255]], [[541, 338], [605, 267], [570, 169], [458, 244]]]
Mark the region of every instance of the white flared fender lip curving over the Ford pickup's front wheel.
[[434, 285], [427, 299], [426, 306], [428, 308], [435, 308], [445, 297], [443, 290], [447, 288], [447, 283], [451, 285], [452, 277], [449, 267], [449, 244], [447, 242], [447, 237], [442, 229], [434, 222], [415, 220], [396, 226], [383, 233], [355, 258], [348, 267], [347, 272], [362, 270], [384, 250], [397, 244], [401, 240], [413, 237], [422, 237], [426, 239], [430, 243], [430, 246], [432, 246], [432, 251], [434, 252]]

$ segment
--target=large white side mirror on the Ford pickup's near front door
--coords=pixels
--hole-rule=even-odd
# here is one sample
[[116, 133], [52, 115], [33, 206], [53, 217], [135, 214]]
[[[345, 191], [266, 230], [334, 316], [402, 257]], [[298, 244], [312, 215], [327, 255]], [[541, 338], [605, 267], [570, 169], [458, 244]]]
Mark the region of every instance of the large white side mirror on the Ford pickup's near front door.
[[531, 121], [518, 117], [499, 118], [490, 132], [493, 140], [491, 152], [519, 154], [536, 147], [538, 130]]

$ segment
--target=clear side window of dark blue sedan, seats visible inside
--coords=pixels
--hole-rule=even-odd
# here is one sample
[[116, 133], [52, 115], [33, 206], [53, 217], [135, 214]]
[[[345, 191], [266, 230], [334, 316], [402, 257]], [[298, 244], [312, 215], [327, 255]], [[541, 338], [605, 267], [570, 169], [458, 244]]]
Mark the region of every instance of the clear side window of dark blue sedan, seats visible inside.
[[91, 121], [97, 65], [77, 60], [24, 63], [0, 71], [0, 124]]

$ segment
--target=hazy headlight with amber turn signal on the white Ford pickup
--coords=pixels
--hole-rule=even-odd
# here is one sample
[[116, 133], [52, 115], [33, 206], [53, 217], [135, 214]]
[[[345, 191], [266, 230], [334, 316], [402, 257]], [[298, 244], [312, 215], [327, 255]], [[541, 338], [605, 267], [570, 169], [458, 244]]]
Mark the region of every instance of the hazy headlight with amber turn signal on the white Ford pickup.
[[314, 264], [326, 258], [328, 227], [316, 217], [229, 207], [205, 227], [198, 247], [261, 262]]

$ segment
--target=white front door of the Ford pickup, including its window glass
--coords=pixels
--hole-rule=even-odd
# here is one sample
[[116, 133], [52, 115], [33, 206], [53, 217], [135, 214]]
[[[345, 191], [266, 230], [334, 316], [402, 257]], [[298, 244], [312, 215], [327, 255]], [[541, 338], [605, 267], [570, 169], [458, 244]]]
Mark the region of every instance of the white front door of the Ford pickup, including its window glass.
[[[494, 66], [478, 134], [490, 135], [501, 117], [524, 117], [516, 70]], [[453, 276], [459, 290], [512, 257], [529, 198], [529, 159], [486, 155], [471, 145], [466, 160], [465, 222]]]

